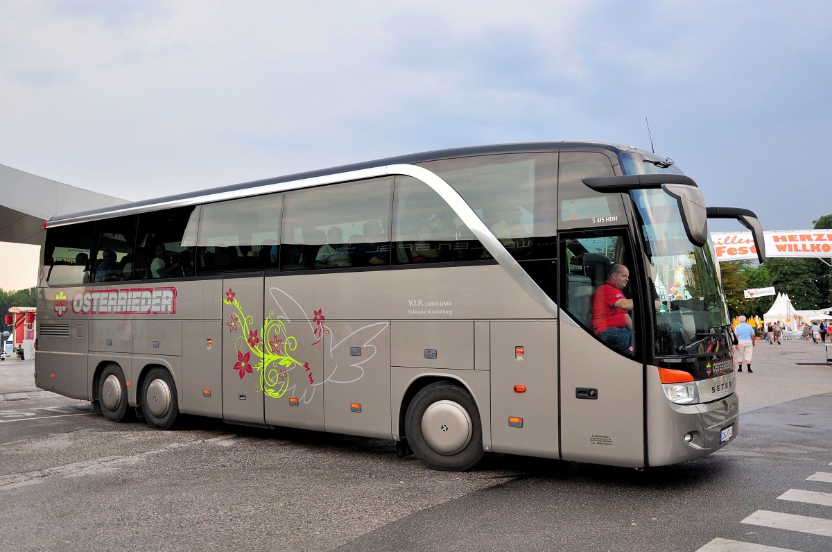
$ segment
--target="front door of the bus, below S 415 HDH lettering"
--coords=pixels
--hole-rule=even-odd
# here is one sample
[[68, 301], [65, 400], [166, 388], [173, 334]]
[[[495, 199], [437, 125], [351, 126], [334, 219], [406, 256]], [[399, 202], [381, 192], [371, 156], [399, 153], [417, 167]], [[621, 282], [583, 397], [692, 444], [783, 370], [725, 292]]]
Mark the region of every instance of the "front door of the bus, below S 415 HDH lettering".
[[[626, 231], [562, 231], [558, 241], [562, 459], [643, 466], [643, 316], [638, 316], [637, 271]], [[623, 295], [636, 297], [636, 311], [630, 312], [631, 336], [614, 345], [603, 341], [593, 328], [594, 296], [616, 293], [612, 288], [602, 289], [609, 287], [605, 282], [613, 263], [624, 264], [631, 274]]]

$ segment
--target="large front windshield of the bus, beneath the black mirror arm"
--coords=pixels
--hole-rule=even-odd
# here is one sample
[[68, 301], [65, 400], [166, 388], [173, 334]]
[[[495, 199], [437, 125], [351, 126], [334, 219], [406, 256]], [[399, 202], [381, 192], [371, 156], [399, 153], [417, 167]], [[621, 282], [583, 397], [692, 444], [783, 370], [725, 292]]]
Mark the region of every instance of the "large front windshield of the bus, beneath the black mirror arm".
[[656, 310], [656, 356], [711, 352], [717, 330], [728, 324], [716, 261], [710, 246], [686, 236], [676, 200], [658, 189], [631, 191], [650, 263]]

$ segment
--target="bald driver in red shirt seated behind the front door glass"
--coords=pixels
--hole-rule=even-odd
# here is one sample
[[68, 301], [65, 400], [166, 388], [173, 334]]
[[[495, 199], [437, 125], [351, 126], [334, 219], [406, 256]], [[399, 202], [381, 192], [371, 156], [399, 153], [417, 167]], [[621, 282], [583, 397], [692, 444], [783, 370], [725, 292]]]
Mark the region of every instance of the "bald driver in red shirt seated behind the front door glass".
[[630, 271], [626, 266], [620, 263], [610, 266], [607, 281], [592, 296], [592, 331], [617, 351], [632, 355], [633, 301], [622, 291], [629, 281]]

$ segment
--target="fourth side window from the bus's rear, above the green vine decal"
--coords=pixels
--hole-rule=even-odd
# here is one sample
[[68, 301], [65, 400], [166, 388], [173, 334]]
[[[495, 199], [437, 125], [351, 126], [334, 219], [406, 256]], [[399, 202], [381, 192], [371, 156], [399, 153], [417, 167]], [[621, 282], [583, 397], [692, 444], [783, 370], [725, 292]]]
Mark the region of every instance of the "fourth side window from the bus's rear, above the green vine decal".
[[200, 271], [277, 267], [283, 194], [202, 206], [197, 241]]

